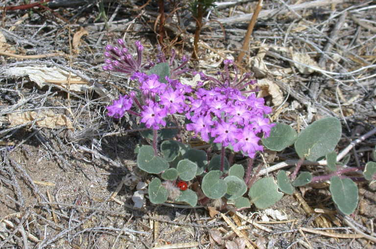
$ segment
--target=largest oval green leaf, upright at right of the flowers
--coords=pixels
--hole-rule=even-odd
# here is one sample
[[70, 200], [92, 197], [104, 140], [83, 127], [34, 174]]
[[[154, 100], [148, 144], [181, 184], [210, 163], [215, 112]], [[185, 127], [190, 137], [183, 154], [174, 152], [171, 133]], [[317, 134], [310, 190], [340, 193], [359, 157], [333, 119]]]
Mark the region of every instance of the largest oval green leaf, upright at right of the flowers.
[[333, 151], [341, 138], [341, 123], [338, 119], [327, 117], [308, 125], [295, 142], [295, 150], [300, 158], [315, 162]]

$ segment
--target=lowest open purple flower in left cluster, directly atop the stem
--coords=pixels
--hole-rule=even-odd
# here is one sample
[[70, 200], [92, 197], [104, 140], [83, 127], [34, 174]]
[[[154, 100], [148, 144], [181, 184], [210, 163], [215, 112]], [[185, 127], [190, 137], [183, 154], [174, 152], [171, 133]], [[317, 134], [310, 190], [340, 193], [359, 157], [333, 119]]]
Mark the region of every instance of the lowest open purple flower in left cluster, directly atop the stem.
[[167, 111], [164, 108], [159, 107], [157, 103], [149, 102], [149, 105], [142, 106], [143, 111], [141, 111], [141, 122], [145, 123], [146, 128], [153, 127], [157, 130], [160, 128], [159, 125], [166, 125], [164, 118], [167, 115]]

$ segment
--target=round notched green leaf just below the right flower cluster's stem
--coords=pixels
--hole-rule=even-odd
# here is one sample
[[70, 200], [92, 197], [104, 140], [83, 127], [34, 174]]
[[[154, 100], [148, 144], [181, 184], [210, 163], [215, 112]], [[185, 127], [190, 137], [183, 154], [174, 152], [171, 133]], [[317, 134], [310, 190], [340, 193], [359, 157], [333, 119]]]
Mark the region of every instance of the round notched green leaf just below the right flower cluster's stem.
[[213, 170], [202, 179], [202, 191], [211, 199], [219, 199], [226, 194], [226, 182], [223, 179], [219, 179], [222, 174], [219, 170]]

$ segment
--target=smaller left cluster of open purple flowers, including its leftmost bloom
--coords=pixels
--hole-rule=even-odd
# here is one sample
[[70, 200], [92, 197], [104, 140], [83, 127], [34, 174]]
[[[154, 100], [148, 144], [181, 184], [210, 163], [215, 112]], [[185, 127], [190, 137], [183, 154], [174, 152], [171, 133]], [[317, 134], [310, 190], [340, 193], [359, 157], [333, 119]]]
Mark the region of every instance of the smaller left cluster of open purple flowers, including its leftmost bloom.
[[[192, 89], [176, 80], [170, 80], [166, 77], [169, 84], [161, 83], [159, 76], [156, 74], [146, 75], [145, 73], [136, 72], [131, 76], [131, 80], [138, 80], [142, 93], [141, 102], [136, 98], [136, 93], [131, 92], [129, 95], [119, 96], [114, 104], [107, 106], [109, 116], [121, 118], [125, 111], [140, 116], [141, 123], [147, 128], [152, 127], [157, 130], [160, 126], [165, 126], [165, 117], [176, 113], [183, 113], [187, 108], [186, 93]], [[135, 103], [141, 112], [137, 113], [131, 110], [132, 104]], [[142, 105], [140, 103], [143, 103]]]

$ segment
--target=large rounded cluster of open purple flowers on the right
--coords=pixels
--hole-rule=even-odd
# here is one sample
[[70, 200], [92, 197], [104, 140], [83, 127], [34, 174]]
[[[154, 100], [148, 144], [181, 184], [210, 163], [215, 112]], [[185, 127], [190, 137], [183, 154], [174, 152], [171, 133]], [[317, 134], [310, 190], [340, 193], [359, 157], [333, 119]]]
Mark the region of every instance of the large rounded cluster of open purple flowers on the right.
[[214, 138], [214, 143], [232, 145], [235, 151], [249, 157], [262, 151], [257, 135], [263, 132], [265, 137], [269, 136], [273, 126], [264, 118], [271, 112], [271, 108], [264, 105], [264, 99], [254, 93], [245, 97], [231, 87], [200, 88], [195, 98], [188, 98], [191, 104], [186, 117], [192, 123], [186, 125], [187, 130], [200, 133], [207, 142]]

